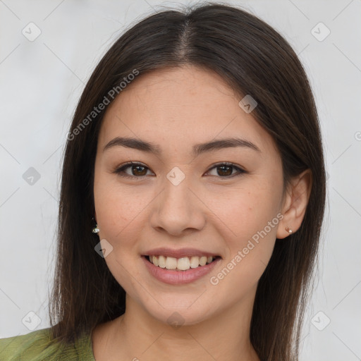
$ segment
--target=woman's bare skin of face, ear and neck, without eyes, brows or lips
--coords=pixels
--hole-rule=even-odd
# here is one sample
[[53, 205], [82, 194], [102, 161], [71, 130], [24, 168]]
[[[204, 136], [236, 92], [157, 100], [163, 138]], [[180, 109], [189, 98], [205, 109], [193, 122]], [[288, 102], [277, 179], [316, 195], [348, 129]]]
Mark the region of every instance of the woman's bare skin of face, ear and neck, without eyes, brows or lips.
[[[293, 232], [300, 227], [312, 182], [307, 170], [283, 194], [280, 154], [252, 112], [240, 108], [240, 99], [219, 75], [183, 66], [139, 75], [108, 107], [95, 161], [95, 218], [99, 239], [113, 247], [106, 264], [127, 297], [126, 313], [92, 333], [97, 361], [259, 360], [249, 337], [257, 282], [276, 238], [289, 235], [287, 226]], [[260, 152], [190, 152], [197, 143], [235, 135]], [[161, 155], [121, 146], [104, 151], [114, 137], [153, 142]], [[146, 168], [126, 169], [133, 178], [114, 173], [128, 161]], [[222, 173], [214, 168], [219, 162], [247, 173]], [[166, 175], [176, 166], [185, 178], [173, 185]], [[277, 214], [283, 219], [212, 284], [210, 278]], [[155, 247], [195, 247], [222, 259], [211, 274], [170, 285], [154, 279], [140, 257]], [[173, 312], [183, 319], [179, 328], [167, 322]]]

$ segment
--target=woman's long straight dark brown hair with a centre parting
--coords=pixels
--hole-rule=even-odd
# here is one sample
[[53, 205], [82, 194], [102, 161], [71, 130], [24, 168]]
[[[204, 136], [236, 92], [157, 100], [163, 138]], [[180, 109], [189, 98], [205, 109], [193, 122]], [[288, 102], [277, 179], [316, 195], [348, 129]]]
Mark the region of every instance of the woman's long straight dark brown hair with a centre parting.
[[214, 71], [240, 99], [252, 94], [257, 100], [252, 115], [279, 149], [285, 188], [293, 176], [312, 171], [305, 218], [297, 232], [276, 240], [259, 279], [250, 328], [250, 340], [262, 360], [297, 360], [326, 197], [317, 110], [305, 70], [288, 42], [256, 16], [224, 4], [197, 4], [147, 16], [117, 39], [87, 82], [63, 161], [49, 304], [52, 335], [73, 342], [82, 331], [120, 316], [126, 308], [125, 291], [94, 251], [99, 243], [91, 232], [94, 159], [106, 111], [94, 114], [94, 106], [105, 97], [111, 101], [114, 90], [121, 94], [119, 85], [130, 73], [137, 71], [140, 77], [183, 64]]

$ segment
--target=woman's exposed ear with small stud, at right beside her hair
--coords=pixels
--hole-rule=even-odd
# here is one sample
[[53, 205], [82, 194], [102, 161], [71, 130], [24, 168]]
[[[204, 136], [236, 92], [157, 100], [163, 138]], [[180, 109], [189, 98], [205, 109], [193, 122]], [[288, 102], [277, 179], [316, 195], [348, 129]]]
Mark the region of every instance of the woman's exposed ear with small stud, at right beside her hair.
[[283, 239], [290, 235], [286, 231], [286, 227], [290, 228], [292, 233], [300, 228], [310, 200], [311, 189], [312, 172], [310, 169], [306, 169], [291, 180], [283, 200], [281, 210], [283, 219], [279, 222], [276, 238]]

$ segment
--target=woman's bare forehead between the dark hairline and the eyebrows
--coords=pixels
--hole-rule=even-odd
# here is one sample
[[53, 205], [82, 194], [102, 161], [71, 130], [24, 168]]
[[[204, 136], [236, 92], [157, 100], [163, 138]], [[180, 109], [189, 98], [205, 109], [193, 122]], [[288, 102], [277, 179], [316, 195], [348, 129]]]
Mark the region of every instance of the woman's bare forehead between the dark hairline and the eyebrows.
[[116, 136], [140, 137], [164, 152], [223, 137], [243, 137], [275, 152], [271, 136], [238, 103], [220, 75], [195, 66], [138, 75], [110, 104], [99, 144]]

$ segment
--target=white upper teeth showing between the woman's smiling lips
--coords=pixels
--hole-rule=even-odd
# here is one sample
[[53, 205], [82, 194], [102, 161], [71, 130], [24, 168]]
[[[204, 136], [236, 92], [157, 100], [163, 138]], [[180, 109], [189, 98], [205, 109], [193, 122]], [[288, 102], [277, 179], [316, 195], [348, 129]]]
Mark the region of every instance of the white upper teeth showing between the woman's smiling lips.
[[148, 262], [154, 264], [154, 266], [163, 268], [163, 269], [171, 269], [174, 271], [187, 271], [188, 269], [200, 268], [205, 266], [206, 264], [210, 264], [214, 262], [216, 259], [221, 257], [219, 256], [192, 256], [192, 257], [166, 257], [166, 256], [144, 256]]

